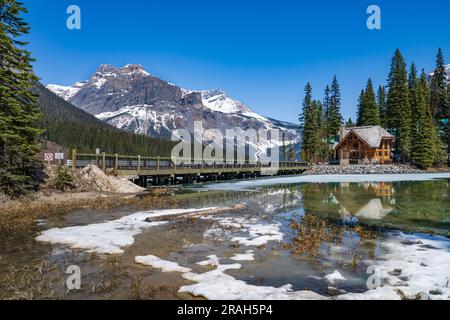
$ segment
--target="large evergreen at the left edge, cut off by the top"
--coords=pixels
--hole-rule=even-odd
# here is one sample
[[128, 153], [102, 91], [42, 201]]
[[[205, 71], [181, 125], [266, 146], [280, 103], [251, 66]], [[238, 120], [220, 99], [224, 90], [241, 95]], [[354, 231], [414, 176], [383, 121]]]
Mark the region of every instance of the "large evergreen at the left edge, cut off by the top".
[[0, 189], [13, 196], [37, 189], [41, 180], [40, 113], [31, 92], [37, 78], [19, 40], [29, 31], [25, 12], [20, 2], [0, 1]]

